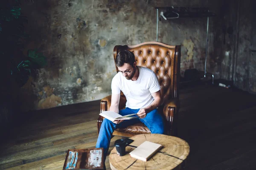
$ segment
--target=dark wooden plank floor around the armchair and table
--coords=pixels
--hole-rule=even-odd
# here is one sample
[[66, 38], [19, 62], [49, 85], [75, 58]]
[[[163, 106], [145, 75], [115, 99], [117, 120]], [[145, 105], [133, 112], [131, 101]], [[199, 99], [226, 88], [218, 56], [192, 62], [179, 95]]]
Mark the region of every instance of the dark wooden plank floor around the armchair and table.
[[[198, 85], [180, 90], [180, 102], [178, 133], [190, 145], [186, 170], [256, 169], [256, 95]], [[30, 113], [2, 139], [0, 170], [62, 170], [68, 149], [95, 147], [99, 104]]]

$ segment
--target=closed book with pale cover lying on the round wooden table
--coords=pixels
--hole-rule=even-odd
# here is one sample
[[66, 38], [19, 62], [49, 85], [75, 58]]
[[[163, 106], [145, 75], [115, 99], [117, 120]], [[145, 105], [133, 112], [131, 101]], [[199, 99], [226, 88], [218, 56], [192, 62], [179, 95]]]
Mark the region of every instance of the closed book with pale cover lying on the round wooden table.
[[140, 146], [131, 151], [130, 155], [133, 158], [140, 159], [142, 161], [147, 161], [162, 147], [162, 144], [145, 141], [142, 144], [140, 144]]

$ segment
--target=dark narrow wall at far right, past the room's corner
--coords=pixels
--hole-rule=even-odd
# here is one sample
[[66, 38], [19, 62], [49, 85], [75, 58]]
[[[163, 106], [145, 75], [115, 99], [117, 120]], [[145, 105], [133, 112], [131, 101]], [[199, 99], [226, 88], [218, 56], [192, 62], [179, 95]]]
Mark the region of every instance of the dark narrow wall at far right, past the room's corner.
[[256, 57], [251, 50], [256, 47], [253, 37], [256, 33], [253, 0], [241, 3], [239, 9], [239, 40], [235, 84], [243, 90], [256, 92]]

